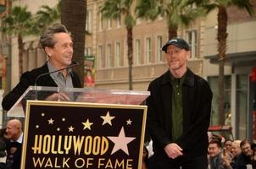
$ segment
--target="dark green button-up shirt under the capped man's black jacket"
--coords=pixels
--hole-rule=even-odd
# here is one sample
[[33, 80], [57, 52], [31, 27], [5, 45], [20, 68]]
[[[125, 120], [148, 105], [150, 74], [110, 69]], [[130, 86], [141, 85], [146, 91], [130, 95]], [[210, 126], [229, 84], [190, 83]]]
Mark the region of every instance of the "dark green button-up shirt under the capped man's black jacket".
[[172, 139], [176, 141], [183, 134], [183, 112], [182, 112], [182, 84], [186, 74], [181, 78], [175, 78], [170, 74], [171, 85], [172, 85]]

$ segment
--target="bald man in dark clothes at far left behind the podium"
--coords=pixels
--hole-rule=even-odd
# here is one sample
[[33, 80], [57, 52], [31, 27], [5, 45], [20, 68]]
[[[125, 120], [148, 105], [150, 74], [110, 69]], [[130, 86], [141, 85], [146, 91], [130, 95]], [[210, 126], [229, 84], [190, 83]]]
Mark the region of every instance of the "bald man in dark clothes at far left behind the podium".
[[19, 169], [21, 160], [21, 150], [23, 142], [22, 123], [18, 119], [9, 120], [6, 125], [7, 161], [8, 169]]

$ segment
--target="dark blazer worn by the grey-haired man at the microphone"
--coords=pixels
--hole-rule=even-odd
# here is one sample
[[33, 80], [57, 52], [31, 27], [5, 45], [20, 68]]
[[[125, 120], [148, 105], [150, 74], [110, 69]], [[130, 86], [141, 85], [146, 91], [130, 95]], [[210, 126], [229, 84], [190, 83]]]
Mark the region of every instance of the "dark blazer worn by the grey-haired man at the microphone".
[[[35, 68], [31, 71], [25, 72], [21, 75], [19, 79], [19, 84], [14, 87], [12, 91], [8, 93], [8, 95], [3, 97], [2, 106], [4, 110], [9, 110], [12, 106], [14, 106], [14, 103], [18, 101], [19, 97], [25, 92], [25, 90], [30, 85], [35, 85], [35, 79], [40, 74], [45, 74], [49, 72], [49, 69], [47, 67], [47, 63], [42, 65], [41, 68]], [[81, 88], [81, 80], [79, 79], [78, 74], [75, 74], [75, 72], [71, 73], [72, 76], [72, 82], [73, 86], [75, 88]], [[42, 76], [40, 79], [37, 80], [38, 86], [52, 86], [57, 87], [58, 85], [55, 83], [53, 78], [50, 76], [50, 74], [47, 74], [45, 76]]]

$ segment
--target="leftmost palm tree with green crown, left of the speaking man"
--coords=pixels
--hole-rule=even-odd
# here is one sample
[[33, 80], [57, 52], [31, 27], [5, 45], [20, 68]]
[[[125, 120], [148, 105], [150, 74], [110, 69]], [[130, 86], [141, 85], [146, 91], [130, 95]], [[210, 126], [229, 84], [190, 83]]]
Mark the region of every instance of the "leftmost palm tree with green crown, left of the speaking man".
[[19, 75], [23, 72], [23, 38], [25, 35], [34, 34], [34, 30], [31, 29], [31, 20], [31, 12], [27, 11], [26, 7], [14, 7], [10, 14], [3, 18], [3, 27], [0, 29], [8, 35], [18, 36]]

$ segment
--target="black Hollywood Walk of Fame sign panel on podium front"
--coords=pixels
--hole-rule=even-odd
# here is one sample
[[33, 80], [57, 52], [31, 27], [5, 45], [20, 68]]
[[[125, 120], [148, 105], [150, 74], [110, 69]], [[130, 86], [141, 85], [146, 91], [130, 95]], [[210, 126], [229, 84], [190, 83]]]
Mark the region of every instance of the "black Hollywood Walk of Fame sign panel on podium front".
[[[141, 168], [146, 112], [147, 106], [28, 101], [22, 168]], [[111, 120], [104, 121], [103, 117], [108, 116]], [[92, 124], [86, 127], [84, 125], [86, 122]], [[109, 139], [109, 137], [118, 139], [121, 134], [125, 139], [130, 138], [126, 144], [114, 143]], [[40, 148], [41, 152], [35, 153], [32, 148], [35, 145], [36, 135], [42, 135], [44, 138], [42, 144], [50, 147], [54, 144], [54, 148], [47, 153], [42, 153]], [[46, 135], [48, 139], [44, 137]], [[72, 146], [69, 154], [56, 153], [58, 146], [63, 147], [58, 145], [58, 137], [62, 136], [63, 144], [64, 136], [70, 135], [75, 136], [76, 139], [78, 137], [81, 139], [82, 136], [91, 136], [92, 139], [97, 136], [107, 138], [109, 149], [103, 155], [93, 153], [86, 155], [84, 147], [81, 148], [80, 154], [77, 152], [75, 154]], [[52, 144], [53, 136], [55, 141]], [[43, 143], [47, 141], [49, 143]], [[124, 149], [119, 147], [114, 151], [116, 144], [123, 144]], [[92, 149], [92, 146], [89, 149]], [[125, 147], [128, 150], [126, 152]], [[87, 161], [88, 159], [90, 160]]]

